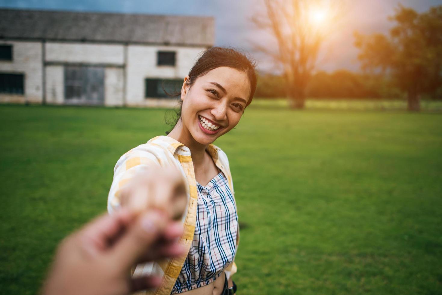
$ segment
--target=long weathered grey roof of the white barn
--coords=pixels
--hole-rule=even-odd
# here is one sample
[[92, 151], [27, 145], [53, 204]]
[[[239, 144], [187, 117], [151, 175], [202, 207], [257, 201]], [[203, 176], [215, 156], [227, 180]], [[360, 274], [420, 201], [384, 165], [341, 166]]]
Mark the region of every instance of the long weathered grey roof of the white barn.
[[0, 9], [0, 39], [213, 46], [213, 17]]

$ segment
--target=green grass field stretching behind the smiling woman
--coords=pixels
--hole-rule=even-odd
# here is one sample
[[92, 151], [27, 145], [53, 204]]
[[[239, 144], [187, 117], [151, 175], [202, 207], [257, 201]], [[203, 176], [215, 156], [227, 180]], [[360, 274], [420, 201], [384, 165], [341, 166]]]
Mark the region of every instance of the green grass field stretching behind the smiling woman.
[[[252, 103], [253, 105], [253, 103]], [[35, 294], [106, 210], [164, 109], [0, 106], [0, 293]], [[442, 294], [442, 116], [251, 107], [215, 144], [241, 222], [236, 294]]]

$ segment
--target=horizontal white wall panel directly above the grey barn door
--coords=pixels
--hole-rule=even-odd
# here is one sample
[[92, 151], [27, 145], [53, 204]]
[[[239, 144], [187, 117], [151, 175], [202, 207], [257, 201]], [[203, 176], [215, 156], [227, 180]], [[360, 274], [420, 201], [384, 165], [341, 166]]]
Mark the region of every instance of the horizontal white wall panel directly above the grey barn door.
[[115, 44], [47, 42], [46, 61], [122, 65], [123, 47]]

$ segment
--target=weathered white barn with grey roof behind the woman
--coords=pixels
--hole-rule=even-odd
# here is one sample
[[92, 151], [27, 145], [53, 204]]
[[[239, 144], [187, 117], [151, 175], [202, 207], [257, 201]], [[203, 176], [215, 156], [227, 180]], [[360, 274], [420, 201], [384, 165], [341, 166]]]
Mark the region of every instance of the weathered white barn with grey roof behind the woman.
[[212, 17], [0, 9], [0, 102], [167, 106]]

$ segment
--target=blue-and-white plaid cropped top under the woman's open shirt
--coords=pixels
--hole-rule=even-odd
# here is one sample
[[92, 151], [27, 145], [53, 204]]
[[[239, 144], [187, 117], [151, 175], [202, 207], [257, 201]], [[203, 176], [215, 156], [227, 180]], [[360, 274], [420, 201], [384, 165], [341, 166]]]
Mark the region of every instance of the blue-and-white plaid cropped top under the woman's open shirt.
[[171, 294], [206, 286], [235, 257], [238, 215], [223, 172], [206, 187], [198, 182], [198, 211], [193, 243]]

